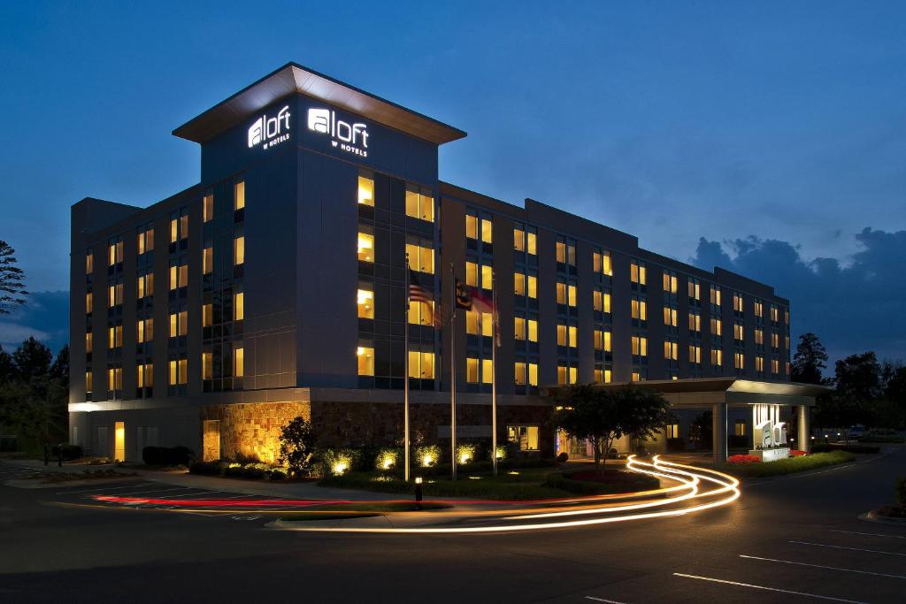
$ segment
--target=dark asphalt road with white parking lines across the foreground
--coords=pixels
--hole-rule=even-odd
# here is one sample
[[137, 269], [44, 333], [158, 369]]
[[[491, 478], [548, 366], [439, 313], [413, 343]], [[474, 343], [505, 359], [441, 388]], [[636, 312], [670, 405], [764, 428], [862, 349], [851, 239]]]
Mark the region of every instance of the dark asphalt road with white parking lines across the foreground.
[[[21, 470], [0, 465], [0, 482]], [[906, 448], [743, 484], [679, 518], [483, 535], [282, 532], [255, 514], [107, 509], [91, 486], [0, 487], [0, 602], [906, 601], [906, 527], [856, 516], [892, 502]], [[141, 480], [127, 494], [219, 497]]]

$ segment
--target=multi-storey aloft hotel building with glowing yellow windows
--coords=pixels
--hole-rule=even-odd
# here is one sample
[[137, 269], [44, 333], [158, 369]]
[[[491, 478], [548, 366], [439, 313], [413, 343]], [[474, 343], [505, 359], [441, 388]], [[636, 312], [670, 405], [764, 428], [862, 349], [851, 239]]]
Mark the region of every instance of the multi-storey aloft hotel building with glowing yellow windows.
[[[407, 257], [444, 321], [451, 265], [496, 283], [498, 436], [526, 450], [556, 446], [545, 387], [789, 380], [772, 287], [442, 182], [465, 132], [390, 101], [290, 63], [174, 134], [201, 146], [198, 185], [72, 206], [71, 437], [95, 455], [270, 461], [299, 415], [324, 445], [399, 443]], [[490, 317], [409, 316], [414, 440], [449, 438], [451, 334], [458, 436], [490, 436]]]

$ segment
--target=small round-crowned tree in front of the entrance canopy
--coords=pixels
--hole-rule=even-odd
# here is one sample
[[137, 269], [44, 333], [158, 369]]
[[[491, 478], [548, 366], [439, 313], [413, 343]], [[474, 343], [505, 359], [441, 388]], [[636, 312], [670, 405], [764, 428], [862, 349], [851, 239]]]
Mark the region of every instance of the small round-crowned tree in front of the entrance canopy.
[[554, 413], [557, 427], [573, 438], [590, 441], [594, 463], [603, 472], [613, 441], [625, 435], [653, 436], [664, 426], [669, 403], [655, 392], [641, 388], [594, 388], [579, 385], [557, 395], [560, 408]]

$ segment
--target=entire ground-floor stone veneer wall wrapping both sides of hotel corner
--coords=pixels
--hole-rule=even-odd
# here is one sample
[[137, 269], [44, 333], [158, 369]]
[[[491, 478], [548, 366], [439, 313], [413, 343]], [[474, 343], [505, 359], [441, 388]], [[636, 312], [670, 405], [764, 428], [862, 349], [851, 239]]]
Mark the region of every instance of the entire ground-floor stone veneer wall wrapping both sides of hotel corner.
[[[318, 446], [399, 446], [403, 434], [401, 403], [323, 402], [313, 403], [236, 403], [202, 407], [201, 422], [220, 421], [220, 455], [236, 459], [236, 455], [257, 457], [272, 463], [280, 449], [280, 429], [294, 417], [302, 416], [312, 422]], [[413, 446], [449, 444], [439, 438], [438, 427], [449, 429], [450, 408], [442, 404], [412, 404], [410, 429]], [[459, 405], [459, 427], [491, 425], [489, 405]], [[554, 427], [551, 407], [501, 405], [497, 407], [497, 439], [506, 443], [506, 426], [531, 424], [541, 427], [541, 455], [553, 455]], [[489, 440], [460, 436], [463, 442]]]

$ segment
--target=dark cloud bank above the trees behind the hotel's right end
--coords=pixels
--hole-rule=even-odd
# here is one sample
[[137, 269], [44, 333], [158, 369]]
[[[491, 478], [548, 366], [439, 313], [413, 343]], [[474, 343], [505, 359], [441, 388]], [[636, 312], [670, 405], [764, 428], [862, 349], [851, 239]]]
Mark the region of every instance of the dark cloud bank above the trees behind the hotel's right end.
[[[906, 231], [869, 227], [854, 235], [849, 264], [806, 261], [798, 245], [749, 236], [725, 242], [699, 239], [692, 264], [714, 266], [769, 283], [790, 299], [792, 335], [814, 331], [840, 358], [874, 350], [882, 359], [906, 356]], [[732, 254], [732, 255], [731, 255]]]

